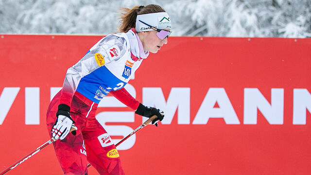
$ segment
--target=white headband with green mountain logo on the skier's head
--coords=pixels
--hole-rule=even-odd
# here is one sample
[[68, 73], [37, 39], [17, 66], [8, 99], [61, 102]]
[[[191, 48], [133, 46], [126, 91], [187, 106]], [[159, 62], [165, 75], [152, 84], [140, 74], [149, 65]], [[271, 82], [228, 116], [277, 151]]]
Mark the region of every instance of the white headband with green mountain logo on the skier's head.
[[149, 26], [143, 24], [145, 22], [157, 29], [171, 29], [171, 19], [166, 12], [158, 12], [158, 13], [150, 13], [150, 14], [143, 14], [138, 15], [136, 17], [136, 32], [145, 32], [145, 31], [152, 31]]

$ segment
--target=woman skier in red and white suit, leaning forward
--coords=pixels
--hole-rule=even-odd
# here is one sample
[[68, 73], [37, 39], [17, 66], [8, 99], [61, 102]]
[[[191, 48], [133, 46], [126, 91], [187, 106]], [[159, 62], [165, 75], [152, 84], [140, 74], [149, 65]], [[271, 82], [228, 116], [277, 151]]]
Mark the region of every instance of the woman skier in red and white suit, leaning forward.
[[[121, 33], [99, 40], [69, 68], [49, 105], [47, 127], [59, 139], [53, 146], [65, 175], [87, 175], [87, 161], [101, 175], [124, 175], [115, 145], [95, 119], [98, 103], [109, 92], [138, 115], [156, 115], [153, 124], [163, 120], [163, 111], [142, 105], [123, 87], [149, 52], [167, 44], [170, 17], [153, 4], [121, 11]], [[74, 125], [77, 130], [69, 134]]]

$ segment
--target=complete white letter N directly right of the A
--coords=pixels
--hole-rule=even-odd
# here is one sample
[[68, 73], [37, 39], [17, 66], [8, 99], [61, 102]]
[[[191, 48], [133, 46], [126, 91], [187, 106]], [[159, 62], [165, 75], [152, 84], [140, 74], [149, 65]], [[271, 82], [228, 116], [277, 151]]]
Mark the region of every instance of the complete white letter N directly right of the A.
[[244, 124], [257, 124], [257, 108], [270, 124], [283, 124], [284, 89], [271, 89], [271, 105], [258, 88], [244, 88]]

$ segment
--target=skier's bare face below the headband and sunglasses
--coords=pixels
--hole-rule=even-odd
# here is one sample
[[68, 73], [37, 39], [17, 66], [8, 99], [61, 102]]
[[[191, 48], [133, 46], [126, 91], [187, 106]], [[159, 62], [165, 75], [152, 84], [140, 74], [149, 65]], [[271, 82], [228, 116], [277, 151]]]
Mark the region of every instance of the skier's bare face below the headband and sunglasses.
[[[168, 29], [169, 30], [169, 29]], [[157, 53], [164, 44], [167, 44], [168, 38], [160, 39], [156, 35], [156, 31], [140, 32], [140, 40], [142, 42], [144, 51], [149, 51], [151, 53]]]

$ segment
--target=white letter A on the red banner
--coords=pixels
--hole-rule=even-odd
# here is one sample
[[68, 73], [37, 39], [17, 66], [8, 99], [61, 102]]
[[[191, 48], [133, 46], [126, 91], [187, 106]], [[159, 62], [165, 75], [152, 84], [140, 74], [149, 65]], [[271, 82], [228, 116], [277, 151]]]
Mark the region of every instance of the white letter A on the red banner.
[[[215, 103], [219, 107], [214, 107]], [[223, 118], [226, 124], [240, 124], [225, 88], [209, 88], [192, 124], [206, 124], [209, 118]]]

